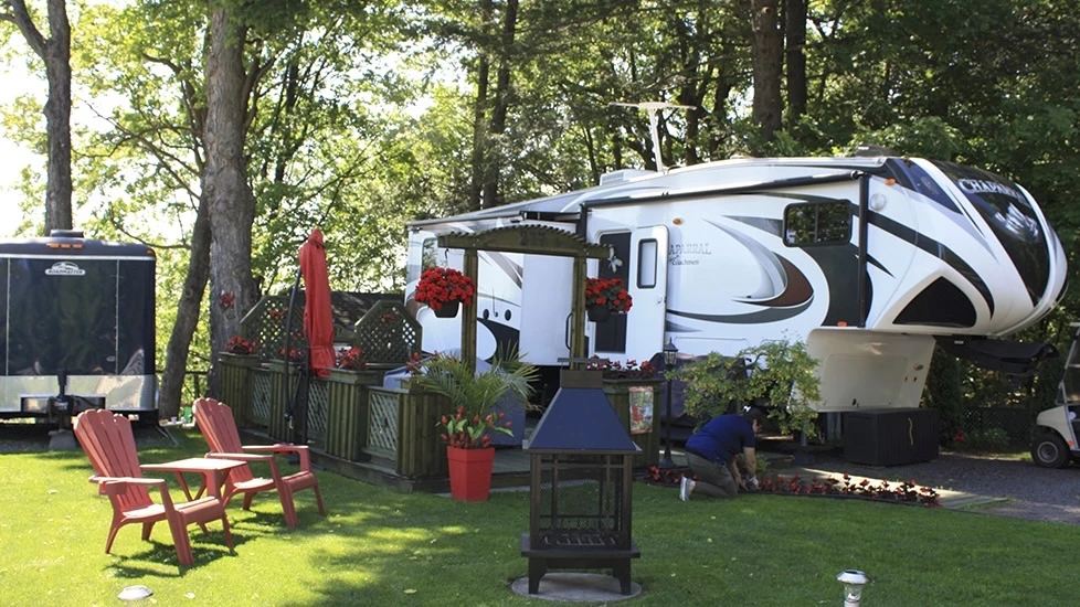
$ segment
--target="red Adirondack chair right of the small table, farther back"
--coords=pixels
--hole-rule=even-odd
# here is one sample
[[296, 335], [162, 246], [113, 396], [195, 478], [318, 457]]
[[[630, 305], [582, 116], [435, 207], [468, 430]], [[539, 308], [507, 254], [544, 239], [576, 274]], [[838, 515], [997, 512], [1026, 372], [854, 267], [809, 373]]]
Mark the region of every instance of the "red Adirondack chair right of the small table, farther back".
[[[199, 398], [194, 403], [195, 425], [202, 430], [210, 451], [207, 457], [223, 457], [245, 461], [263, 461], [269, 466], [271, 478], [261, 478], [252, 473], [251, 466], [234, 468], [225, 478], [225, 503], [236, 493], [244, 494], [244, 510], [251, 509], [252, 498], [261, 491], [277, 491], [285, 513], [285, 524], [299, 525], [296, 517], [296, 505], [293, 494], [304, 489], [315, 491], [319, 503], [319, 514], [326, 517], [322, 505], [322, 494], [319, 493], [319, 481], [311, 471], [311, 455], [306, 445], [241, 445], [240, 432], [233, 419], [229, 405], [213, 398]], [[260, 454], [258, 451], [263, 451]], [[297, 454], [300, 459], [298, 472], [283, 476], [277, 467], [275, 455]]]

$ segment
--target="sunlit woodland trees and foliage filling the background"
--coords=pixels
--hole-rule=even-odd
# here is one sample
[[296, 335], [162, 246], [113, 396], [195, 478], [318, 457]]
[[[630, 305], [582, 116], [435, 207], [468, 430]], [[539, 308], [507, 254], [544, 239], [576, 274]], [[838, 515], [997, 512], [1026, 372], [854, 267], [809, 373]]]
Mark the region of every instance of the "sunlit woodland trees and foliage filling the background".
[[[313, 227], [335, 288], [392, 291], [409, 220], [650, 168], [647, 116], [612, 102], [692, 106], [660, 115], [666, 166], [879, 143], [983, 167], [1076, 248], [1065, 0], [4, 0], [3, 57], [36, 73], [23, 7], [71, 13], [75, 215], [161, 252], [160, 288], [180, 294], [159, 316], [163, 362], [181, 374], [204, 364], [188, 342], [209, 360], [290, 284]], [[0, 108], [3, 136], [52, 160], [38, 97]], [[28, 233], [55, 221], [41, 183], [28, 166]], [[1063, 339], [1078, 310], [1070, 294], [1033, 331]]]

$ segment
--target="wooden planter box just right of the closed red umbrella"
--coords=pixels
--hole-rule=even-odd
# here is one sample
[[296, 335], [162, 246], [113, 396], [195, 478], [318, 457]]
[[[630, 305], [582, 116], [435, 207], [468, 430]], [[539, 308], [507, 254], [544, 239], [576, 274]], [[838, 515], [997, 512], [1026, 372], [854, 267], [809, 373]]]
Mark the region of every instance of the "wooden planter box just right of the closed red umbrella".
[[382, 385], [382, 372], [335, 369], [329, 377], [318, 381], [327, 383], [324, 449], [335, 457], [360, 461], [361, 447], [368, 441], [367, 388]]

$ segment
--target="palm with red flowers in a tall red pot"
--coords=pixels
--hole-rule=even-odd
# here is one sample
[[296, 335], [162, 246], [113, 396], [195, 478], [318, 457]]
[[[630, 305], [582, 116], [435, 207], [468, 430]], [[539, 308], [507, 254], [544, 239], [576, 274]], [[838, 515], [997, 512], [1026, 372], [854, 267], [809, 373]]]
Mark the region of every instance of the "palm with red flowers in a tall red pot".
[[435, 355], [412, 382], [449, 398], [453, 411], [441, 418], [449, 462], [451, 496], [459, 501], [485, 501], [495, 462], [493, 433], [510, 433], [510, 422], [491, 408], [504, 394], [527, 402], [537, 369], [511, 352], [496, 354], [491, 368], [477, 372], [458, 358]]

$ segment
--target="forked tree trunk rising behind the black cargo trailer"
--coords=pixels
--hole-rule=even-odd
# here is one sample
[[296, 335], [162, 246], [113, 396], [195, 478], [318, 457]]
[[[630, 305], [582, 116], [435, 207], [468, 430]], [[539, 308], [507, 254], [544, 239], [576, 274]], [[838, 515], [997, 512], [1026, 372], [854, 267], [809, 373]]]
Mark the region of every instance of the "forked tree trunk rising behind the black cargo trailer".
[[53, 230], [72, 228], [72, 66], [71, 22], [65, 0], [49, 0], [46, 40], [34, 25], [24, 0], [7, 0], [11, 20], [27, 43], [45, 63], [49, 99], [45, 102], [45, 132], [49, 139], [49, 168], [45, 182], [45, 235]]

